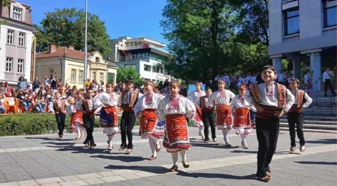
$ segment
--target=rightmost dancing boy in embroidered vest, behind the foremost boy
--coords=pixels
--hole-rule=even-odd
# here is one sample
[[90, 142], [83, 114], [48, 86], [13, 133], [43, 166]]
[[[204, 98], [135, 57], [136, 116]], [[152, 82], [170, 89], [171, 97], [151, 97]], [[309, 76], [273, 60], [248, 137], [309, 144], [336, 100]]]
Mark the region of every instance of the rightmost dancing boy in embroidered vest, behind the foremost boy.
[[[289, 109], [287, 114], [288, 123], [289, 123], [289, 134], [290, 134], [290, 151], [295, 151], [296, 143], [296, 131], [297, 137], [299, 138], [299, 150], [302, 152], [305, 150], [305, 140], [303, 134], [303, 110], [304, 108], [308, 107], [312, 99], [309, 95], [304, 92], [303, 90], [298, 89], [299, 86], [299, 79], [292, 78], [290, 81], [290, 88], [291, 93], [295, 96], [294, 104]], [[295, 129], [296, 125], [296, 129]]]

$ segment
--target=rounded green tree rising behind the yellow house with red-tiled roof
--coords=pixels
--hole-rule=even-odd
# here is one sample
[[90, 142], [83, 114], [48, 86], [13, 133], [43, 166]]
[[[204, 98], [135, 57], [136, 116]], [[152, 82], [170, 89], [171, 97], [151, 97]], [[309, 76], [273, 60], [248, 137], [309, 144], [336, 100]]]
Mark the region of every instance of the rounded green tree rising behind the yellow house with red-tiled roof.
[[[76, 8], [56, 8], [53, 12], [45, 13], [46, 17], [35, 24], [38, 32], [37, 52], [49, 49], [49, 44], [59, 46], [74, 45], [75, 49], [84, 51], [85, 47], [85, 11]], [[102, 54], [111, 53], [110, 37], [104, 21], [95, 14], [88, 12], [88, 52], [100, 51]]]

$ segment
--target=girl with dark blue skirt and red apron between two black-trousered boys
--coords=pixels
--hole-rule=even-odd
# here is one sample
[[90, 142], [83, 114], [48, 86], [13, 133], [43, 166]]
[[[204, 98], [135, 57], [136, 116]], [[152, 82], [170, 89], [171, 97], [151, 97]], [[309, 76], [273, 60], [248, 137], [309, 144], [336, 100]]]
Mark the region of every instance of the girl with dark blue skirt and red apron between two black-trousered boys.
[[108, 150], [112, 151], [114, 146], [112, 145], [112, 138], [118, 132], [118, 116], [117, 116], [117, 102], [118, 97], [114, 92], [115, 86], [111, 83], [106, 84], [106, 92], [102, 92], [95, 96], [94, 101], [97, 105], [101, 105], [102, 111], [100, 114], [100, 124], [104, 127], [103, 132], [108, 136]]

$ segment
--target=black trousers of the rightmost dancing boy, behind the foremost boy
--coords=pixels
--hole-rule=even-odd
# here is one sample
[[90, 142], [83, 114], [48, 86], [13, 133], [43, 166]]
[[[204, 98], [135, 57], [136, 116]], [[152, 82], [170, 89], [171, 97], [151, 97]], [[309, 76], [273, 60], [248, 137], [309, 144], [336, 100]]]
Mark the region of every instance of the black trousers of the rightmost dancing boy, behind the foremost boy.
[[[296, 131], [297, 137], [299, 138], [299, 144], [304, 145], [305, 140], [303, 134], [303, 120], [304, 120], [303, 113], [298, 113], [297, 111], [288, 112], [287, 117], [289, 123], [290, 145], [296, 146], [295, 143]], [[295, 125], [297, 129], [295, 129]]]

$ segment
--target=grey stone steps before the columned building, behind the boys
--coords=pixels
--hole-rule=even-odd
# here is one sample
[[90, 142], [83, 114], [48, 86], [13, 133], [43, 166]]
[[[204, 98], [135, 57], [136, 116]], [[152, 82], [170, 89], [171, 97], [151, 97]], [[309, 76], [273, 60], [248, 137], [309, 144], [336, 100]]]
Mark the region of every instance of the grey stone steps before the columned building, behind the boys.
[[[309, 96], [312, 103], [304, 109], [303, 131], [337, 133], [336, 97], [324, 97], [324, 91], [317, 91], [317, 97], [316, 92], [310, 92]], [[286, 114], [280, 118], [280, 129], [289, 130]]]

